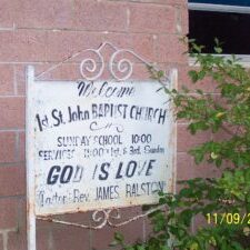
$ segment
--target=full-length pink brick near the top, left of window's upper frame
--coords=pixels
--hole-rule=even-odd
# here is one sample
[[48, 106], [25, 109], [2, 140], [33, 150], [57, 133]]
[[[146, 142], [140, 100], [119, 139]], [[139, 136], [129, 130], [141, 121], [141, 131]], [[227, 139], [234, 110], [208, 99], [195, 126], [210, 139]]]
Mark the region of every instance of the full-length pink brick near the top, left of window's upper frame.
[[129, 9], [130, 32], [176, 33], [173, 7], [131, 4]]

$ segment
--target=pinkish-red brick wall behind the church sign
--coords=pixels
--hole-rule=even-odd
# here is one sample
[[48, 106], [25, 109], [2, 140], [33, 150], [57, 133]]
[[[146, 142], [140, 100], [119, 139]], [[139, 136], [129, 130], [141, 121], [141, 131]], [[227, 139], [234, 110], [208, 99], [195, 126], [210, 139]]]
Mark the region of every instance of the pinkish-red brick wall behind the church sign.
[[[184, 82], [186, 47], [179, 38], [187, 33], [187, 12], [186, 0], [0, 0], [0, 250], [27, 249], [26, 67], [33, 64], [38, 73], [79, 50], [110, 41], [134, 50], [161, 69], [177, 67]], [[74, 68], [76, 61], [71, 61], [53, 77], [72, 78]], [[134, 78], [149, 77], [140, 64], [137, 72]], [[187, 170], [187, 162], [192, 163], [186, 151], [193, 142], [184, 128], [179, 124], [179, 178], [192, 174]], [[90, 220], [89, 214], [64, 218]], [[69, 229], [40, 221], [37, 226], [38, 250], [106, 250], [114, 231]], [[121, 230], [134, 241], [146, 239], [150, 227], [142, 220]]]

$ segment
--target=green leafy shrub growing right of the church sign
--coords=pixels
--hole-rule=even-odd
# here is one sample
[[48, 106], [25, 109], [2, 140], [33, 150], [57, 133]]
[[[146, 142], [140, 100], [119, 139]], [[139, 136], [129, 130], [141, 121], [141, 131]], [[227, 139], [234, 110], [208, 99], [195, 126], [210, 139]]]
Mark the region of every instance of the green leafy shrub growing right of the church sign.
[[[197, 164], [207, 161], [220, 168], [221, 176], [181, 181], [177, 194], [159, 193], [159, 203], [167, 209], [150, 214], [153, 232], [146, 242], [127, 246], [116, 234], [114, 243], [124, 250], [250, 249], [250, 73], [234, 56], [220, 56], [218, 40], [217, 54], [203, 54], [202, 47], [190, 43], [190, 56], [199, 67], [189, 77], [196, 84], [204, 79], [213, 82], [217, 94], [199, 88], [164, 91], [171, 96], [177, 119], [189, 121], [191, 134], [214, 134], [190, 153]], [[150, 71], [161, 81], [161, 71]], [[221, 131], [227, 137], [217, 140]], [[204, 223], [192, 230], [197, 218]]]

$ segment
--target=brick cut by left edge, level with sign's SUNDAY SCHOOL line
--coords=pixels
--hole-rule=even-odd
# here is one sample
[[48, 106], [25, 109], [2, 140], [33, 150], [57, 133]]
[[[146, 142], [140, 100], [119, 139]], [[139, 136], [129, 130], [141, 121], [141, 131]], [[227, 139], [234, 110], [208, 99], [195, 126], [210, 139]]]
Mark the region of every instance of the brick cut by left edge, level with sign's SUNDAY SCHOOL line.
[[16, 133], [0, 132], [0, 163], [14, 162], [16, 159]]

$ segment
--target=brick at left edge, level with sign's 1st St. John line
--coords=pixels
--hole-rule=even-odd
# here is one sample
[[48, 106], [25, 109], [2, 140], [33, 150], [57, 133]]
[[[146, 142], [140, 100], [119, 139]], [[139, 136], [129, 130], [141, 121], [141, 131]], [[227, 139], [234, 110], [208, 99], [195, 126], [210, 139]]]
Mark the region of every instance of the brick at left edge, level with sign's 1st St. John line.
[[0, 98], [0, 128], [24, 127], [24, 98]]

